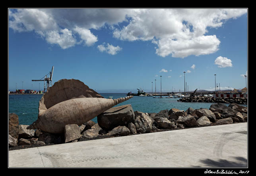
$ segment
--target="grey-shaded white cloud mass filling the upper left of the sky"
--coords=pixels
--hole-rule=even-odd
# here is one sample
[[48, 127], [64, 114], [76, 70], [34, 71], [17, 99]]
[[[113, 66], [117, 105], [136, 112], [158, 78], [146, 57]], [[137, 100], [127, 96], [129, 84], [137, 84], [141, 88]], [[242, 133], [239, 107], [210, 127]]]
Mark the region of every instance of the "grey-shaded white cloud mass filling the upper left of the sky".
[[98, 38], [90, 29], [125, 21], [127, 13], [125, 9], [9, 9], [9, 27], [16, 32], [34, 31], [48, 43], [66, 49], [82, 43], [93, 45]]

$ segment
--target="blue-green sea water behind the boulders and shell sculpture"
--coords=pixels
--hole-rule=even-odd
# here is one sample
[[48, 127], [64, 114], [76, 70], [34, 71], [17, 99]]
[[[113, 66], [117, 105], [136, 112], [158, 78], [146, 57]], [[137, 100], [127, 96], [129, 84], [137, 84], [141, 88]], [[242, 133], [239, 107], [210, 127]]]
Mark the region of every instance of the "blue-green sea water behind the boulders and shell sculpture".
[[[101, 93], [104, 98], [109, 98], [112, 96], [113, 99], [126, 97], [126, 94], [108, 94]], [[39, 100], [42, 98], [43, 94], [23, 94], [23, 95], [8, 95], [8, 112], [16, 113], [19, 116], [19, 124], [30, 125], [37, 120]], [[211, 106], [212, 103], [189, 103], [177, 101], [179, 98], [162, 98], [148, 97], [148, 96], [134, 96], [127, 101], [124, 101], [116, 106], [131, 104], [134, 111], [141, 111], [144, 113], [158, 113], [159, 111], [165, 109], [176, 108], [186, 111], [189, 107], [193, 109], [207, 108]], [[225, 104], [229, 105], [229, 104]], [[97, 117], [92, 119], [92, 121], [97, 123]]]

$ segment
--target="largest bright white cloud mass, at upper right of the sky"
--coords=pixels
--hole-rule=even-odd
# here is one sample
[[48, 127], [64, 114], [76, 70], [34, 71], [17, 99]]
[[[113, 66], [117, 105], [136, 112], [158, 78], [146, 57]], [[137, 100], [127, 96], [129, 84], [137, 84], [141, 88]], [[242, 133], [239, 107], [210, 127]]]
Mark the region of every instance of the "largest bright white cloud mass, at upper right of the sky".
[[120, 40], [151, 40], [162, 57], [212, 54], [219, 50], [216, 35], [205, 35], [207, 27], [221, 27], [224, 20], [246, 13], [246, 9], [136, 9], [130, 23], [115, 29]]

